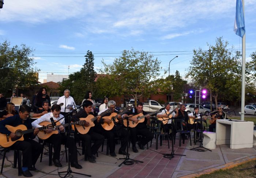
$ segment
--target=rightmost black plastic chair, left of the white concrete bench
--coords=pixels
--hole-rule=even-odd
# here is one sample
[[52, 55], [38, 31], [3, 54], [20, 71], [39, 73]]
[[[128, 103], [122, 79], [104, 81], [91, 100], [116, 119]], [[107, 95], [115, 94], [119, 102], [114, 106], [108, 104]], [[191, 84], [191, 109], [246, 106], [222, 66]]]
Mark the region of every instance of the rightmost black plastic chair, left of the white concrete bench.
[[[183, 129], [183, 124], [185, 124], [185, 129]], [[181, 147], [181, 135], [182, 134], [187, 134], [189, 136], [189, 139], [190, 139], [190, 146], [192, 146], [191, 144], [191, 134], [190, 134], [190, 131], [188, 131], [188, 128], [187, 128], [187, 124], [186, 122], [183, 120], [183, 119], [174, 119], [174, 125], [175, 125], [175, 129], [176, 129], [176, 132], [174, 134], [174, 144], [175, 144], [175, 140], [176, 140], [176, 133], [179, 134], [179, 146]], [[182, 143], [184, 144], [185, 143], [185, 137], [182, 138]]]

